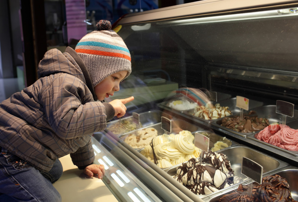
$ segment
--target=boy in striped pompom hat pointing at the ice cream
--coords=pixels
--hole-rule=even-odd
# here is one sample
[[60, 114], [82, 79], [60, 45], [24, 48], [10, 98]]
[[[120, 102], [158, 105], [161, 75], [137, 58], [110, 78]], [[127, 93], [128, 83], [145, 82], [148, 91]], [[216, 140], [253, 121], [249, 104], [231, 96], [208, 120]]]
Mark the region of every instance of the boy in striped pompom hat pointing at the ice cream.
[[102, 179], [91, 136], [122, 117], [134, 97], [103, 101], [131, 73], [131, 58], [109, 21], [97, 29], [75, 50], [46, 52], [39, 79], [1, 102], [0, 201], [61, 201], [52, 183], [63, 172], [59, 158], [68, 154], [86, 175]]

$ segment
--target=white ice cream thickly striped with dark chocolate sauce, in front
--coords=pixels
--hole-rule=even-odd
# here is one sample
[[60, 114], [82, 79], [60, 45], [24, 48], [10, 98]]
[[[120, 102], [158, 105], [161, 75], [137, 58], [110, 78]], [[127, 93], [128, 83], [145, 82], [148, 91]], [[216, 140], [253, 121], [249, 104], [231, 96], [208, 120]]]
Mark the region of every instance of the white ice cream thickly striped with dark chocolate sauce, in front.
[[203, 152], [202, 163], [192, 158], [178, 167], [174, 179], [197, 195], [205, 195], [234, 184], [234, 172], [226, 156]]

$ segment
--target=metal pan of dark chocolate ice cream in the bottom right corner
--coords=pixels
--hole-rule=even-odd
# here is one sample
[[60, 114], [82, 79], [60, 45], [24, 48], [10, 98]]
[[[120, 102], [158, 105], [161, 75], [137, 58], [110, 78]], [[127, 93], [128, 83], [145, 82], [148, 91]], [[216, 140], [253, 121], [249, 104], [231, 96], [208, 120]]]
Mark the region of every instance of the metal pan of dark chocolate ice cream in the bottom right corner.
[[[286, 180], [288, 181], [289, 187], [290, 187], [292, 198], [295, 201], [297, 201], [298, 200], [298, 183], [297, 183], [297, 181], [298, 181], [298, 169], [296, 169], [296, 168], [295, 169], [286, 168], [284, 170], [278, 171], [277, 173], [273, 173], [273, 174], [270, 174], [270, 175], [274, 175], [274, 174], [277, 174], [277, 175], [280, 175], [281, 177], [286, 178]], [[263, 176], [265, 176], [265, 175], [263, 175]], [[229, 189], [229, 190], [226, 190], [225, 192], [219, 192], [216, 196], [210, 197], [209, 199], [204, 200], [204, 201], [206, 201], [206, 202], [218, 202], [223, 195], [230, 194], [232, 192], [237, 191], [238, 186], [239, 185], [233, 186], [234, 189], [232, 189], [232, 190]]]

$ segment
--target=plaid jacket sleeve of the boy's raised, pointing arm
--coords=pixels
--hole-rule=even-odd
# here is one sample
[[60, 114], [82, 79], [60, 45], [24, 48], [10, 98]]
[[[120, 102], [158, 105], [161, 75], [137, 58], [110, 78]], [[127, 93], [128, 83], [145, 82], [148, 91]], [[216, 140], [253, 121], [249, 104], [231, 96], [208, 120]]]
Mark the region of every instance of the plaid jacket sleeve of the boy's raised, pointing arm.
[[74, 139], [104, 130], [105, 106], [93, 100], [88, 87], [80, 79], [60, 73], [51, 82], [52, 85], [42, 94], [42, 102], [45, 116], [56, 135], [62, 139]]

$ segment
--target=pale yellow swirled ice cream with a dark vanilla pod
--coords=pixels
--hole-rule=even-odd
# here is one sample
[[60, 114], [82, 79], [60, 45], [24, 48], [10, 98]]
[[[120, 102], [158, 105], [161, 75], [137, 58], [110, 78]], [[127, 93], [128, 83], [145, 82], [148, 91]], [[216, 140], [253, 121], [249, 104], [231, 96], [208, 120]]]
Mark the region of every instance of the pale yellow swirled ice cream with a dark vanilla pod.
[[[201, 150], [195, 147], [194, 136], [188, 130], [179, 134], [163, 134], [152, 139], [157, 166], [161, 168], [181, 164], [191, 158], [200, 156]], [[147, 159], [154, 163], [153, 150], [150, 145], [140, 151]], [[167, 161], [167, 162], [166, 162]]]

